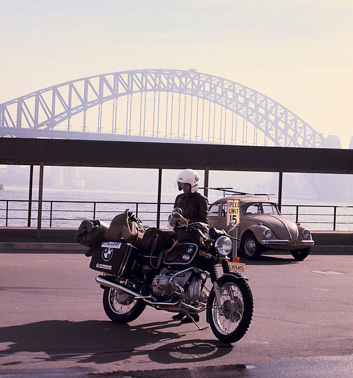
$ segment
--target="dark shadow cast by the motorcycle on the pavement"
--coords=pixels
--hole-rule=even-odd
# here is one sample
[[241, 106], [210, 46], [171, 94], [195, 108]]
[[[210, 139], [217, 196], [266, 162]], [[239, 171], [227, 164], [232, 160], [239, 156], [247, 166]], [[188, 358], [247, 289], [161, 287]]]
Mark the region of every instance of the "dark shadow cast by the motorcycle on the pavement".
[[7, 365], [1, 364], [1, 357], [15, 353], [18, 353], [16, 358], [21, 358], [21, 353], [26, 357], [33, 353], [31, 357], [36, 361], [75, 360], [97, 364], [149, 355], [151, 360], [170, 364], [218, 358], [232, 350], [232, 346], [217, 340], [175, 342], [185, 335], [179, 327], [179, 323], [173, 321], [130, 326], [96, 320], [49, 320], [2, 327], [0, 343], [9, 345], [0, 351], [0, 366]]

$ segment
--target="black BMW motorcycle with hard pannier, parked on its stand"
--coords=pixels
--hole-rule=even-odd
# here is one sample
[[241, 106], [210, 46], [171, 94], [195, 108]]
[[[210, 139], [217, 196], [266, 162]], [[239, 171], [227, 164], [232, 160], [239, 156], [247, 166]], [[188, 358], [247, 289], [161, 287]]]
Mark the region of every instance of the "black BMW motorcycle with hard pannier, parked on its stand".
[[[172, 214], [182, 218], [181, 209]], [[159, 266], [146, 251], [123, 241], [103, 241], [93, 252], [90, 268], [104, 272], [96, 281], [104, 290], [106, 315], [113, 322], [129, 323], [148, 305], [184, 313], [201, 329], [191, 315], [205, 311], [206, 322], [220, 341], [240, 340], [252, 320], [253, 299], [244, 265], [229, 258], [232, 237], [202, 223], [186, 222], [175, 230], [196, 234], [197, 241], [175, 243], [159, 258]], [[222, 267], [221, 277], [217, 266]]]

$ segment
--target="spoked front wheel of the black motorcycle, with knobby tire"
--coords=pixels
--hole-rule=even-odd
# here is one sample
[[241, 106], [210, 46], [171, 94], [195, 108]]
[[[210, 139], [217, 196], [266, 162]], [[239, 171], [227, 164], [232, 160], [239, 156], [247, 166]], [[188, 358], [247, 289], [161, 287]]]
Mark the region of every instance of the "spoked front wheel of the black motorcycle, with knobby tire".
[[220, 311], [212, 290], [207, 304], [207, 319], [220, 341], [235, 343], [245, 335], [252, 321], [252, 292], [243, 278], [227, 276], [221, 278], [220, 294], [223, 311]]

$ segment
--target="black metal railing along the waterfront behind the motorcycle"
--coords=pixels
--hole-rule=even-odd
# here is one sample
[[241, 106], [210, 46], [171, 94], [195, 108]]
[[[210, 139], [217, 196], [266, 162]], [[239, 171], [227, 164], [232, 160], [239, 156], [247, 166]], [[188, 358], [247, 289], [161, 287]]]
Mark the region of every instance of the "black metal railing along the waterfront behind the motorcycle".
[[[37, 226], [38, 201], [0, 200], [0, 227]], [[42, 227], [78, 227], [83, 219], [110, 222], [126, 208], [146, 225], [167, 223], [173, 203], [161, 202], [43, 201]], [[353, 230], [353, 206], [283, 205], [282, 215], [311, 229]], [[314, 211], [315, 209], [315, 211]]]

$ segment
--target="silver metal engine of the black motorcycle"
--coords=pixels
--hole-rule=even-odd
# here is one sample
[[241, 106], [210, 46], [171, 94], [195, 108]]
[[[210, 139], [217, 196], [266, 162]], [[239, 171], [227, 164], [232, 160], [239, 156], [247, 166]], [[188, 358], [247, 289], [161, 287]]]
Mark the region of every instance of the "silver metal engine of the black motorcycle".
[[[197, 274], [194, 274], [193, 277], [191, 277], [193, 272], [190, 271], [176, 275], [169, 283], [170, 278], [177, 272], [177, 270], [169, 270], [167, 268], [161, 269], [160, 274], [155, 276], [152, 280], [151, 288], [153, 295], [155, 297], [170, 297], [174, 291], [177, 291], [175, 283], [178, 283], [184, 289], [185, 300], [187, 303], [198, 301], [201, 296], [201, 277]], [[190, 282], [187, 284], [189, 280]]]

